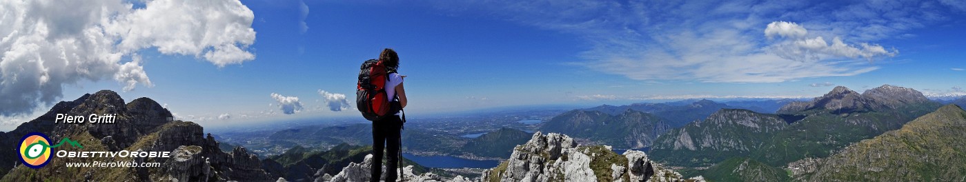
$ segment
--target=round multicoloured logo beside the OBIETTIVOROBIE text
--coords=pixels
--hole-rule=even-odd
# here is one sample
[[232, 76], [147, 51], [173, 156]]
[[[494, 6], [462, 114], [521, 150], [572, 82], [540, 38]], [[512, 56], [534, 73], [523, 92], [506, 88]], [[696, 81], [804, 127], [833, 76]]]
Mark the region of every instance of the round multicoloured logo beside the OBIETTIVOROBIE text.
[[50, 139], [43, 133], [31, 132], [20, 139], [20, 162], [32, 169], [40, 169], [50, 162]]

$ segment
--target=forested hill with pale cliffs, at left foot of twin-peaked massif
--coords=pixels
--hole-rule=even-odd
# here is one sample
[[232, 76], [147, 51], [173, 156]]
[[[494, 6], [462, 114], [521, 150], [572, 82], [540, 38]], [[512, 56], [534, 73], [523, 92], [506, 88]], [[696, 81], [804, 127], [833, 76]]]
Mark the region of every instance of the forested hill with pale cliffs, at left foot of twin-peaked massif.
[[650, 153], [662, 160], [688, 163], [692, 160], [716, 163], [732, 156], [747, 156], [787, 121], [777, 115], [749, 110], [723, 109], [658, 138]]

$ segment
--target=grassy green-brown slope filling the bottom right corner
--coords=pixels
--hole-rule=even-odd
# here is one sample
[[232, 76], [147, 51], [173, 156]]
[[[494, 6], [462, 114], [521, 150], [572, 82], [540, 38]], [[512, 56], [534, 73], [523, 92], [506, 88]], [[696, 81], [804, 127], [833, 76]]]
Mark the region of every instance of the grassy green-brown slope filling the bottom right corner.
[[947, 105], [901, 129], [800, 162], [808, 181], [962, 181], [966, 176], [966, 111]]

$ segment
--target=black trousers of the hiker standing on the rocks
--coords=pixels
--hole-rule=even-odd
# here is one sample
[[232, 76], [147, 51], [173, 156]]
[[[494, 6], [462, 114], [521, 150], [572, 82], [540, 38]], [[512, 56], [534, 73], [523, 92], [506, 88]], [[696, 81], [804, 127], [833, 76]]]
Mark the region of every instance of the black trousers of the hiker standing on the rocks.
[[397, 165], [399, 165], [399, 138], [403, 128], [403, 120], [399, 116], [385, 117], [372, 122], [372, 178], [379, 181], [383, 173], [383, 150], [387, 163], [385, 165], [385, 181], [396, 181]]

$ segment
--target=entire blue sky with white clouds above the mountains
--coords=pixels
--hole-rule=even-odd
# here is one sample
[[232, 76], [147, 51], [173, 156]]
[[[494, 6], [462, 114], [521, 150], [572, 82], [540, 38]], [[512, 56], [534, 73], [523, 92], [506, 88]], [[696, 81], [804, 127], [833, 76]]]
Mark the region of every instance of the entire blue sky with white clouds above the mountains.
[[[0, 92], [8, 99], [0, 102], [12, 106], [0, 107], [6, 110], [0, 112], [3, 130], [55, 101], [99, 90], [119, 91], [128, 101], [151, 97], [206, 126], [355, 117], [357, 68], [384, 47], [399, 52], [400, 72], [409, 76], [408, 111], [415, 115], [648, 99], [814, 97], [835, 86], [864, 91], [883, 84], [966, 94], [961, 1], [212, 2], [99, 2], [115, 12], [101, 11], [121, 15], [91, 13], [80, 21], [89, 23], [79, 25], [63, 23], [78, 18], [71, 10], [49, 16], [3, 5], [23, 12], [23, 21], [44, 22], [3, 19], [14, 24], [0, 29], [4, 35], [36, 33], [46, 39], [33, 39], [35, 44], [59, 45], [57, 39], [83, 39], [84, 30], [95, 30], [111, 40], [80, 41], [77, 46], [110, 49], [103, 50], [108, 56], [77, 60], [16, 57], [16, 47], [25, 46], [0, 43], [7, 63], [0, 65], [3, 80], [9, 82]], [[176, 6], [161, 8], [165, 3]], [[218, 3], [230, 6], [212, 6]], [[190, 6], [201, 11], [139, 13]], [[206, 16], [219, 13], [225, 15]], [[197, 22], [192, 17], [209, 19], [185, 25]], [[150, 31], [128, 34], [133, 30]], [[8, 37], [30, 40], [25, 35]], [[32, 59], [77, 64], [63, 68], [48, 61], [34, 72], [12, 68]], [[113, 68], [77, 71], [98, 70], [83, 65], [104, 60], [103, 67]], [[52, 81], [14, 79], [23, 75]]]

